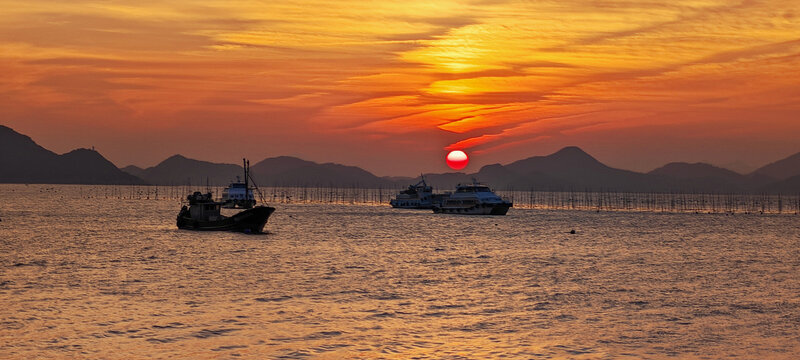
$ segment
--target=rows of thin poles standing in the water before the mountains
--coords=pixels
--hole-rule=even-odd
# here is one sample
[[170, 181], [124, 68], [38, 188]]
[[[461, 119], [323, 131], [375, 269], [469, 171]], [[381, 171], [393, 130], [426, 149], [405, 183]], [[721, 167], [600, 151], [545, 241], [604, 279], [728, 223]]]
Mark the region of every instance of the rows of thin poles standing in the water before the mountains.
[[[73, 185], [84, 198], [177, 200], [194, 191], [211, 192], [219, 198], [219, 186]], [[42, 191], [47, 191], [45, 188]], [[388, 205], [400, 188], [359, 187], [264, 187], [268, 204], [370, 204]], [[647, 211], [664, 213], [800, 214], [800, 194], [737, 193], [631, 193], [615, 191], [519, 191], [497, 194], [518, 209]], [[259, 198], [259, 194], [256, 194]]]

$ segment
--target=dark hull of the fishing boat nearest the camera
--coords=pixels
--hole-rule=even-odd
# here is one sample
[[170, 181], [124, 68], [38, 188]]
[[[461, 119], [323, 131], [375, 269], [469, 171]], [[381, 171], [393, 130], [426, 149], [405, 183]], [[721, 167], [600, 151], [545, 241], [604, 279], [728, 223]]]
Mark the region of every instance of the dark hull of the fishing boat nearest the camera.
[[230, 217], [219, 220], [194, 220], [186, 213], [178, 214], [177, 225], [180, 229], [197, 231], [238, 231], [244, 233], [261, 233], [275, 211], [274, 207], [256, 206]]

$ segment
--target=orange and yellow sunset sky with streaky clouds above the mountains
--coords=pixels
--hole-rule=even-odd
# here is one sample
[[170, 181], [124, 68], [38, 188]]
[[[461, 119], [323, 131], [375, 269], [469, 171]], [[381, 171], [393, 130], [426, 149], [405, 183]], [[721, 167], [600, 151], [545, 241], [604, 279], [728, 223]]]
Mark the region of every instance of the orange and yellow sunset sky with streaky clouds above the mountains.
[[117, 166], [800, 152], [800, 1], [0, 0], [0, 124]]

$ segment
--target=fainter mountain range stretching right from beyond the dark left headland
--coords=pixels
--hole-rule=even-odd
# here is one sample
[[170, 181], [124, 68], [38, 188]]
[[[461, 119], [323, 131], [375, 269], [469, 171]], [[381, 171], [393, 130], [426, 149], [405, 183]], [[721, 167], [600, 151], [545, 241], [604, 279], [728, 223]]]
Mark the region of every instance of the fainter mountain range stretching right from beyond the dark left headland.
[[[172, 156], [155, 167], [126, 167], [153, 184], [227, 185], [241, 176], [242, 168]], [[291, 156], [267, 158], [251, 166], [259, 186], [405, 187], [419, 177], [378, 177], [356, 166], [316, 163]], [[741, 175], [709, 164], [670, 163], [649, 173], [609, 167], [580, 148], [570, 146], [546, 156], [533, 156], [507, 165], [491, 164], [476, 173], [426, 174], [429, 185], [452, 190], [472, 179], [500, 190], [629, 191], [629, 192], [774, 192], [774, 179]], [[777, 185], [776, 185], [777, 186]], [[781, 185], [791, 188], [792, 182]]]

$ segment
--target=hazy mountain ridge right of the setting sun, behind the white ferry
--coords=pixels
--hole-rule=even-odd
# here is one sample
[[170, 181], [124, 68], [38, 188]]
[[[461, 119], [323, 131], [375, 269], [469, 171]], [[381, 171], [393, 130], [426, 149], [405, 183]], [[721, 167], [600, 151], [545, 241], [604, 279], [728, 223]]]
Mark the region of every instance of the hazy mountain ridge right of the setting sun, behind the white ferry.
[[[794, 157], [773, 164], [791, 168]], [[800, 172], [800, 171], [798, 171]], [[786, 173], [791, 173], [787, 171]], [[544, 191], [626, 192], [800, 192], [800, 177], [775, 181], [753, 173], [742, 175], [704, 163], [669, 163], [649, 173], [609, 167], [580, 148], [565, 147], [546, 156], [533, 156], [507, 165], [492, 164], [472, 174], [428, 174], [429, 184], [450, 189], [475, 178], [496, 189]], [[419, 178], [408, 181], [413, 183]]]

